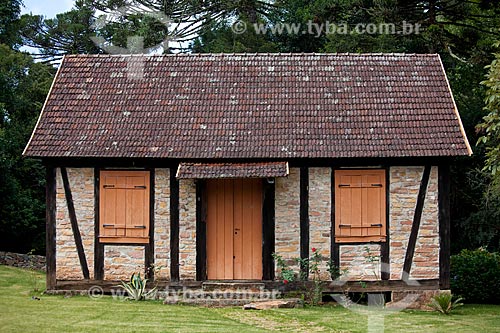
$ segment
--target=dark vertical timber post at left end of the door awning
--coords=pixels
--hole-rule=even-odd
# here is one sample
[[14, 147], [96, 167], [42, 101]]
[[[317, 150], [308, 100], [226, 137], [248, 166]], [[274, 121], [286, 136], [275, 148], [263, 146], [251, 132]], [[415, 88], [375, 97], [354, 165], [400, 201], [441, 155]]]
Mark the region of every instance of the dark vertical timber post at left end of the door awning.
[[179, 181], [170, 169], [170, 279], [179, 281]]

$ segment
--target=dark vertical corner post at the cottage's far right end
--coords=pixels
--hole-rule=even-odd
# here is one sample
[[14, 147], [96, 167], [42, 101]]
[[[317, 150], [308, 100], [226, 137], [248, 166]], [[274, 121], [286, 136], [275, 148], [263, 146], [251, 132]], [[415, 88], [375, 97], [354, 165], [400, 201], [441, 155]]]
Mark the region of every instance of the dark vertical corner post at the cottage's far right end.
[[439, 284], [450, 288], [450, 166], [440, 165], [438, 170], [439, 203]]

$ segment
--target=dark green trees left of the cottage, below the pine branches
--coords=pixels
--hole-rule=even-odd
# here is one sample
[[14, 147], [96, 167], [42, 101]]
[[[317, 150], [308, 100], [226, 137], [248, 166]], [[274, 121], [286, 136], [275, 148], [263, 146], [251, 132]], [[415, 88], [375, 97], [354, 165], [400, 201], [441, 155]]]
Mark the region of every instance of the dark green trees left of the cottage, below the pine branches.
[[0, 246], [44, 250], [45, 177], [39, 161], [22, 158], [54, 68], [0, 45]]

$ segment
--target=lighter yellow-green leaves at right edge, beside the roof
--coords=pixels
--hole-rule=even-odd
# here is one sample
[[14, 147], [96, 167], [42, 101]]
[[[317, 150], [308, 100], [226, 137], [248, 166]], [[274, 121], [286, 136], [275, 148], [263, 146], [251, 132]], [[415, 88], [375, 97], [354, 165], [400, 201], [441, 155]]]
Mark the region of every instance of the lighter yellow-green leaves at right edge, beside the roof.
[[[500, 46], [500, 43], [496, 45]], [[485, 170], [495, 176], [500, 174], [500, 52], [495, 54], [495, 59], [487, 68], [487, 79], [481, 84], [487, 88], [484, 109], [488, 114], [478, 125], [478, 130], [484, 134], [478, 143], [487, 146]]]

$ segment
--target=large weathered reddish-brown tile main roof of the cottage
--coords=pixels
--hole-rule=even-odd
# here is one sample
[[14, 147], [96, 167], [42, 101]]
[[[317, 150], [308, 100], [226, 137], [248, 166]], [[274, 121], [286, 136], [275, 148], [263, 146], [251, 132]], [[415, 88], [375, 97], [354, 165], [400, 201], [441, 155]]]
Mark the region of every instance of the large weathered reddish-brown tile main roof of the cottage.
[[66, 56], [25, 151], [179, 159], [469, 153], [439, 56], [404, 54]]

